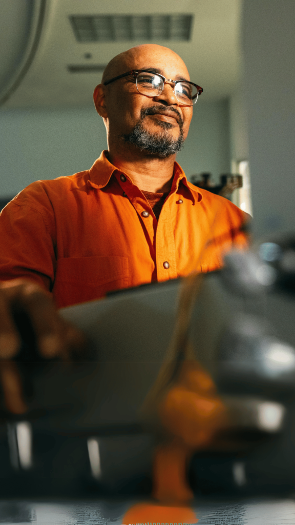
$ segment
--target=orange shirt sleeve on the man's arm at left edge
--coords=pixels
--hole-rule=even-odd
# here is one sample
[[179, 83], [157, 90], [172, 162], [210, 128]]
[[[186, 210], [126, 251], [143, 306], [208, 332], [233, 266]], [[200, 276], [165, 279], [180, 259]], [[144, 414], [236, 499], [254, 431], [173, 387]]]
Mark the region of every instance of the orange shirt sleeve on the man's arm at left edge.
[[[41, 188], [37, 193], [42, 194]], [[36, 206], [34, 187], [33, 192], [26, 188], [2, 210], [0, 280], [27, 278], [51, 291], [56, 266], [55, 224], [45, 192], [43, 200], [45, 205]]]

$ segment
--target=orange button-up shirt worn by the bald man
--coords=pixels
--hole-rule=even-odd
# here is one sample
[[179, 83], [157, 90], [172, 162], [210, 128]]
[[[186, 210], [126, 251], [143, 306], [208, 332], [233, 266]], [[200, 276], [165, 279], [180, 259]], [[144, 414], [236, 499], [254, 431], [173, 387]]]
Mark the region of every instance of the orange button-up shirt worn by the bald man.
[[187, 182], [175, 162], [157, 221], [143, 193], [102, 152], [90, 170], [34, 182], [3, 209], [0, 279], [33, 279], [64, 307], [215, 270], [224, 251], [246, 246], [245, 217], [227, 199]]

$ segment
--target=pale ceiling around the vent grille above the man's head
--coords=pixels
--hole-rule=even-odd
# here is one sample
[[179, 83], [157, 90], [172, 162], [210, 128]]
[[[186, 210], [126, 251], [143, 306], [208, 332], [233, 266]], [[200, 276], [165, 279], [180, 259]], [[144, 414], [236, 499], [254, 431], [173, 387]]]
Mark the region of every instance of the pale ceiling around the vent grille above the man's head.
[[[19, 9], [22, 5], [21, 16], [17, 3]], [[101, 80], [97, 66], [144, 43], [78, 42], [69, 18], [73, 15], [192, 14], [191, 40], [153, 42], [183, 58], [191, 79], [204, 88], [205, 100], [227, 98], [237, 85], [241, 0], [30, 0], [25, 12], [24, 4], [23, 0], [1, 0], [0, 4], [6, 28], [1, 31], [0, 27], [0, 67], [4, 62], [6, 67], [5, 75], [0, 75], [3, 109], [87, 106]], [[69, 65], [93, 70], [84, 72], [78, 67], [70, 72]]]

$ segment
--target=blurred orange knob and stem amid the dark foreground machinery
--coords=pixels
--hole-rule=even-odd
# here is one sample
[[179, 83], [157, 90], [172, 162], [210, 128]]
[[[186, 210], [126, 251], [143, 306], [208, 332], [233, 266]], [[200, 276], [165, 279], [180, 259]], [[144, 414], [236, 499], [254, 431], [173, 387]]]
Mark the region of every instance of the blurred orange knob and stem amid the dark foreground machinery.
[[170, 440], [155, 450], [153, 497], [185, 502], [193, 498], [187, 481], [189, 459], [195, 450], [212, 444], [228, 423], [226, 407], [210, 375], [195, 361], [185, 361], [175, 386], [159, 405], [162, 426]]

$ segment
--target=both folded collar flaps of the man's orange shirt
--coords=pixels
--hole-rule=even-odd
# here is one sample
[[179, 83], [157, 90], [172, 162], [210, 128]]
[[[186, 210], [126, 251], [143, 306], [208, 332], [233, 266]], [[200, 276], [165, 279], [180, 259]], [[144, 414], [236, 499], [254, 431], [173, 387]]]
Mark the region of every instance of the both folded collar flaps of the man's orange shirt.
[[[94, 188], [104, 188], [113, 174], [117, 170], [117, 167], [113, 166], [107, 158], [108, 150], [103, 150], [99, 158], [94, 162], [93, 166], [89, 170], [89, 181], [88, 183]], [[184, 184], [192, 195], [193, 201], [201, 201], [202, 194], [198, 191], [198, 188], [193, 184], [187, 182], [187, 178], [182, 167], [175, 162], [174, 163], [174, 176], [171, 187], [171, 193], [175, 193], [178, 190], [180, 184]]]

